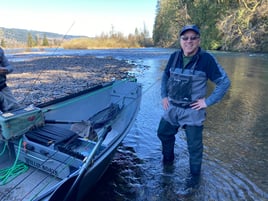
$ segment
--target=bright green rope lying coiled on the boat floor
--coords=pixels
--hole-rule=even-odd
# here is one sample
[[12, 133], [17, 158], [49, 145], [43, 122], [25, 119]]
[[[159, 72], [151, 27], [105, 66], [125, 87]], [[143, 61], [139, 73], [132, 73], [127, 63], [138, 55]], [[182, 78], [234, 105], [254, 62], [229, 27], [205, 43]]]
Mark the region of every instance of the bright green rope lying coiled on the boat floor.
[[[22, 138], [20, 139], [20, 142], [19, 142], [18, 153], [14, 161], [14, 164], [10, 168], [5, 168], [5, 169], [0, 170], [0, 186], [9, 183], [13, 179], [15, 179], [17, 176], [19, 176], [20, 174], [28, 170], [27, 165], [25, 165], [22, 162], [18, 162], [21, 144], [22, 144]], [[7, 146], [7, 143], [5, 143], [5, 147], [3, 150], [5, 150], [6, 146]], [[3, 153], [4, 151], [2, 151], [1, 154]]]

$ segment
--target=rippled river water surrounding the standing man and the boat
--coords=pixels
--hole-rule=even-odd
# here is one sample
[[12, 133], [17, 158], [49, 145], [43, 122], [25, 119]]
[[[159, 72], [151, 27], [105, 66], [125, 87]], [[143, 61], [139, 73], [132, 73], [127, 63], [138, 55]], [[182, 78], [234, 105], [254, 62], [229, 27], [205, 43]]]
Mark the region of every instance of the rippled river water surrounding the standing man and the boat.
[[[50, 54], [112, 56], [136, 63], [143, 85], [136, 122], [119, 147], [92, 201], [265, 201], [268, 200], [268, 55], [213, 52], [232, 86], [207, 109], [200, 188], [179, 196], [189, 172], [183, 131], [176, 136], [175, 163], [163, 167], [156, 136], [163, 113], [161, 74], [172, 49], [57, 50]], [[30, 56], [30, 55], [29, 55]], [[15, 59], [10, 57], [10, 59]], [[209, 84], [210, 91], [213, 85]]]

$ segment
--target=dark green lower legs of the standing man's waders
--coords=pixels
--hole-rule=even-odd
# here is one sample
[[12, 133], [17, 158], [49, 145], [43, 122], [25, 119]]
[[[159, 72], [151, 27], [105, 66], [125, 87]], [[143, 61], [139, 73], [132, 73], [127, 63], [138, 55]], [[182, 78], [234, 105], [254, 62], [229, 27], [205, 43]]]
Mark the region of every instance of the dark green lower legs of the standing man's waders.
[[[157, 136], [162, 142], [163, 160], [174, 159], [175, 135], [179, 126], [173, 126], [163, 118], [159, 123]], [[189, 151], [190, 172], [192, 175], [199, 175], [203, 157], [203, 126], [185, 126], [187, 145]]]

